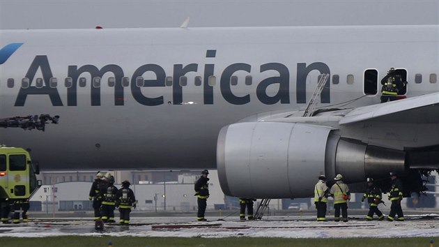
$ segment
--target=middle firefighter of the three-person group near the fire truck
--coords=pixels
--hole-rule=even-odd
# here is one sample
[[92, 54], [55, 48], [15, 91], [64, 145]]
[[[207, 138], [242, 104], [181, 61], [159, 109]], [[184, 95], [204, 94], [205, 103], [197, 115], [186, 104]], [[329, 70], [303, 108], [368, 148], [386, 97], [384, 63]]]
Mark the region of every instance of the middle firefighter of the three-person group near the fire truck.
[[102, 186], [100, 195], [102, 197], [102, 205], [100, 206], [100, 214], [102, 221], [105, 223], [114, 223], [114, 204], [116, 202], [117, 188], [114, 184], [114, 177], [110, 176], [107, 186]]

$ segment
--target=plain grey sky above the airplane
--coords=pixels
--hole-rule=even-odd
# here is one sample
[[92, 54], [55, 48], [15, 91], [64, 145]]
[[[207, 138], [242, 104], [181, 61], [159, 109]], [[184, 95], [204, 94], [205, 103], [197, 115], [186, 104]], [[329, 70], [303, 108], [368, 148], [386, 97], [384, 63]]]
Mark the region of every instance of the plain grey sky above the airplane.
[[439, 0], [0, 0], [0, 29], [438, 24]]

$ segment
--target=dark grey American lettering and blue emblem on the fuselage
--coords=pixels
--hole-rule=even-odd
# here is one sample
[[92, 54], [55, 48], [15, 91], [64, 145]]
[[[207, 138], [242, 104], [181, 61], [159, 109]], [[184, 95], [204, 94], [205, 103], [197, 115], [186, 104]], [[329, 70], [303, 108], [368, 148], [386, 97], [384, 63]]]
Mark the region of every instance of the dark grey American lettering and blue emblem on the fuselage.
[[[13, 43], [6, 45], [0, 50], [0, 61], [4, 63], [12, 54], [17, 50], [22, 43]], [[226, 66], [222, 71], [215, 70], [215, 58], [217, 57], [217, 50], [206, 50], [206, 59], [210, 62], [205, 64], [199, 63], [189, 63], [189, 64], [181, 64], [176, 63], [173, 66], [173, 70], [167, 74], [164, 68], [160, 64], [156, 63], [144, 63], [139, 64], [138, 67], [134, 70], [132, 75], [126, 75], [124, 68], [119, 66], [118, 64], [106, 64], [102, 67], [98, 67], [91, 63], [82, 64], [80, 66], [75, 64], [67, 65], [66, 68], [66, 78], [70, 79], [70, 86], [67, 87], [66, 98], [62, 98], [61, 95], [56, 89], [56, 87], [49, 87], [50, 80], [53, 76], [52, 66], [49, 63], [49, 58], [47, 55], [36, 55], [36, 57], [31, 62], [29, 69], [27, 70], [24, 77], [26, 77], [29, 82], [32, 82], [37, 76], [38, 71], [40, 71], [43, 79], [43, 87], [21, 87], [20, 91], [18, 91], [17, 98], [15, 100], [15, 106], [24, 106], [26, 104], [26, 99], [28, 96], [33, 95], [47, 95], [49, 96], [49, 100], [51, 101], [53, 106], [76, 106], [77, 105], [77, 89], [81, 86], [79, 80], [83, 74], [90, 75], [91, 78], [102, 78], [105, 74], [109, 73], [109, 75], [113, 75], [115, 78], [114, 84], [114, 105], [125, 105], [125, 90], [130, 91], [134, 100], [141, 105], [164, 105], [164, 95], [162, 93], [157, 93], [157, 97], [146, 96], [144, 92], [148, 87], [166, 87], [165, 80], [167, 76], [172, 77], [171, 87], [166, 87], [168, 92], [172, 94], [172, 101], [169, 101], [168, 104], [173, 105], [182, 105], [183, 104], [183, 86], [180, 85], [179, 80], [180, 77], [185, 76], [187, 73], [197, 73], [200, 77], [203, 78], [203, 87], [200, 87], [199, 93], [203, 95], [203, 104], [204, 105], [213, 105], [214, 101], [214, 91], [222, 96], [222, 98], [232, 105], [245, 105], [250, 103], [251, 91], [247, 91], [247, 93], [242, 93], [242, 91], [237, 91], [233, 89], [231, 78], [234, 73], [246, 72], [249, 75], [256, 75], [258, 73], [264, 73], [265, 71], [274, 71], [277, 75], [267, 77], [259, 76], [259, 80], [256, 82], [249, 82], [249, 84], [243, 86], [247, 87], [249, 85], [256, 84], [256, 88], [253, 87], [253, 93], [256, 96], [257, 100], [260, 103], [265, 105], [273, 105], [276, 103], [281, 104], [289, 104], [291, 102], [291, 85], [290, 85], [290, 76], [291, 76], [291, 66], [287, 66], [283, 63], [277, 62], [268, 62], [263, 64], [249, 64], [249, 63], [231, 63], [229, 66]], [[289, 67], [289, 68], [288, 68]], [[295, 64], [296, 70], [296, 82], [295, 82], [295, 95], [297, 103], [307, 103], [306, 100], [306, 84], [307, 77], [311, 71], [318, 71], [319, 73], [328, 73], [330, 74], [330, 68], [327, 64], [321, 61], [315, 61], [312, 63], [297, 63]], [[141, 87], [137, 86], [137, 78], [144, 75], [144, 73], [154, 73], [155, 79], [153, 80], [144, 80], [144, 84]], [[208, 83], [210, 76], [215, 75], [219, 78], [219, 85], [214, 87]], [[124, 77], [131, 77], [130, 79], [130, 87], [124, 87], [122, 84], [122, 79]], [[262, 77], [262, 79], [261, 79]], [[246, 77], [247, 80], [247, 77]], [[277, 91], [270, 91], [273, 88], [277, 87]], [[201, 84], [199, 85], [201, 86]], [[330, 80], [326, 82], [325, 89], [323, 89], [321, 93], [321, 103], [330, 103]], [[294, 87], [294, 86], [293, 86]], [[270, 92], [269, 92], [270, 91]], [[91, 105], [101, 105], [101, 89], [100, 87], [93, 87], [91, 85]], [[63, 100], [66, 100], [63, 102]]]

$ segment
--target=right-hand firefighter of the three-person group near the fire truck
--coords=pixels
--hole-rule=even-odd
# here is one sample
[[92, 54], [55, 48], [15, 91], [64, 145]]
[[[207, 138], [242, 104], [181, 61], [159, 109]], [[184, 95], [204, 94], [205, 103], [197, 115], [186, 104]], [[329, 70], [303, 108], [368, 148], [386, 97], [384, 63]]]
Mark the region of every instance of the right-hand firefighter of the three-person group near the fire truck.
[[116, 207], [121, 213], [121, 225], [130, 225], [131, 208], [136, 208], [136, 197], [134, 192], [130, 189], [130, 182], [125, 180], [122, 182], [122, 188], [116, 192]]

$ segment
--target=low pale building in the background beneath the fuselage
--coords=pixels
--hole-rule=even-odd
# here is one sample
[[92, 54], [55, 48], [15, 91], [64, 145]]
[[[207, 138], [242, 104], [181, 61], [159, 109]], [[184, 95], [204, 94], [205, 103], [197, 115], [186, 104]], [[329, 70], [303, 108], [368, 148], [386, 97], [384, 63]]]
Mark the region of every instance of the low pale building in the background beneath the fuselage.
[[[200, 171], [109, 171], [115, 186], [128, 180], [136, 195], [140, 211], [197, 211], [194, 184]], [[96, 172], [42, 172], [43, 186], [31, 198], [34, 208], [46, 211], [92, 210], [88, 200]], [[224, 209], [224, 193], [219, 186], [216, 170], [209, 174], [208, 209]], [[40, 205], [38, 207], [37, 205]]]

